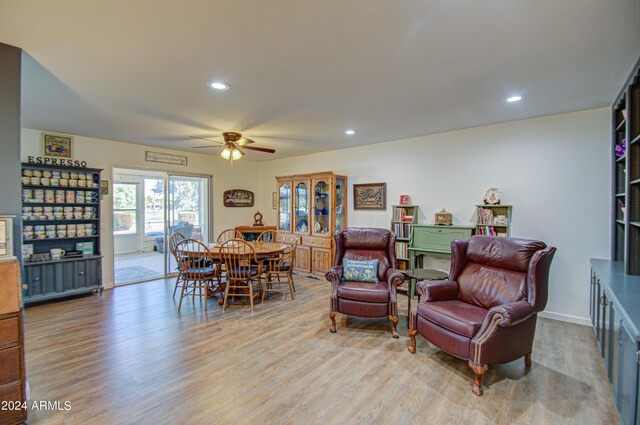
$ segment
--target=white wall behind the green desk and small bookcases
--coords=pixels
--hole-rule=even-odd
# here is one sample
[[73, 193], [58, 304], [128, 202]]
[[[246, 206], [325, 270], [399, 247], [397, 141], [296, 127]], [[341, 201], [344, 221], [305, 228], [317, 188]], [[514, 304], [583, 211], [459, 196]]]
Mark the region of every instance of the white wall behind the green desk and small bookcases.
[[[470, 223], [490, 187], [513, 205], [512, 236], [558, 248], [545, 314], [588, 324], [589, 258], [609, 258], [609, 109], [514, 121], [261, 163], [260, 210], [275, 223], [275, 176], [331, 170], [348, 176], [350, 226], [388, 228], [391, 209], [354, 211], [354, 183], [387, 183], [420, 206], [420, 223], [446, 208]], [[270, 214], [266, 214], [269, 212]]]

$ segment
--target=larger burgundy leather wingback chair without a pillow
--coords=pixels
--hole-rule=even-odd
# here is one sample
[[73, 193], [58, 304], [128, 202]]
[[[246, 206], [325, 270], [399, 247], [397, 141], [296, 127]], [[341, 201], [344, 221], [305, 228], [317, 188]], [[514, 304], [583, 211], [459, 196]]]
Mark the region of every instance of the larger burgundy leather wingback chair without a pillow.
[[528, 239], [472, 236], [452, 241], [449, 280], [418, 284], [422, 299], [409, 316], [409, 351], [415, 353], [419, 333], [468, 360], [476, 395], [482, 395], [488, 364], [524, 356], [530, 367], [537, 313], [547, 304], [555, 251]]

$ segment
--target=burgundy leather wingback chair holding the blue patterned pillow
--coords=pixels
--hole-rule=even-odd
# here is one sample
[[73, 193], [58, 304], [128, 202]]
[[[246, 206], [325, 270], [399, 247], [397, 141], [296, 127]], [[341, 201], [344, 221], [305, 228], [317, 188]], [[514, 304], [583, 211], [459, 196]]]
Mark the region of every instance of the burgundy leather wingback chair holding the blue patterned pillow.
[[[351, 227], [334, 235], [336, 256], [334, 267], [325, 277], [331, 282], [332, 333], [336, 332], [336, 314], [356, 317], [388, 317], [392, 334], [398, 338], [396, 287], [404, 275], [396, 270], [396, 236], [386, 229]], [[342, 281], [342, 260], [378, 260], [379, 282]]]

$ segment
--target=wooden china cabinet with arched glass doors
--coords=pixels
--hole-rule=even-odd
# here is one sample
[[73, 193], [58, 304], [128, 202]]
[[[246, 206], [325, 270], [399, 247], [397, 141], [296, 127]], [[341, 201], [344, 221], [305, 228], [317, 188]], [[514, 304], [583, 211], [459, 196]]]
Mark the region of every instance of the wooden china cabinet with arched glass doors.
[[328, 171], [276, 181], [278, 231], [298, 244], [296, 271], [324, 276], [333, 266], [333, 234], [347, 227], [347, 178]]

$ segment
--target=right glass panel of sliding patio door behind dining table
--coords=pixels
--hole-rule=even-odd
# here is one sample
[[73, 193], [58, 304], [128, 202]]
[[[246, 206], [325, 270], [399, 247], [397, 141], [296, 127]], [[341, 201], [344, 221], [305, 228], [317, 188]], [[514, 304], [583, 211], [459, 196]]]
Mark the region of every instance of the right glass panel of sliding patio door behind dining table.
[[[171, 234], [181, 233], [186, 238], [204, 243], [210, 238], [209, 177], [168, 174], [165, 185], [166, 241]], [[176, 261], [169, 250], [165, 250], [167, 273], [175, 273]]]

